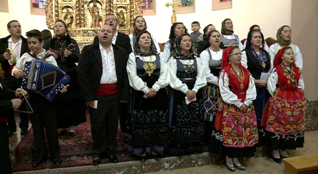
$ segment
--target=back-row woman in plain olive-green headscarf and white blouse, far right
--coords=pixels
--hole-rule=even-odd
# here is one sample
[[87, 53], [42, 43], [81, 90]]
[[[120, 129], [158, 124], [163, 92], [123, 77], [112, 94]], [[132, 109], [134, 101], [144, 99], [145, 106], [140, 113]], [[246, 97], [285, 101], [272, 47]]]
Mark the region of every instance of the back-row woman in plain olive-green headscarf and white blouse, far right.
[[292, 44], [292, 29], [288, 25], [283, 25], [277, 30], [277, 43], [269, 47], [269, 55], [271, 56], [271, 69], [273, 69], [274, 57], [280, 48], [289, 46], [293, 49], [295, 55], [295, 65], [302, 70], [302, 55], [297, 45]]

